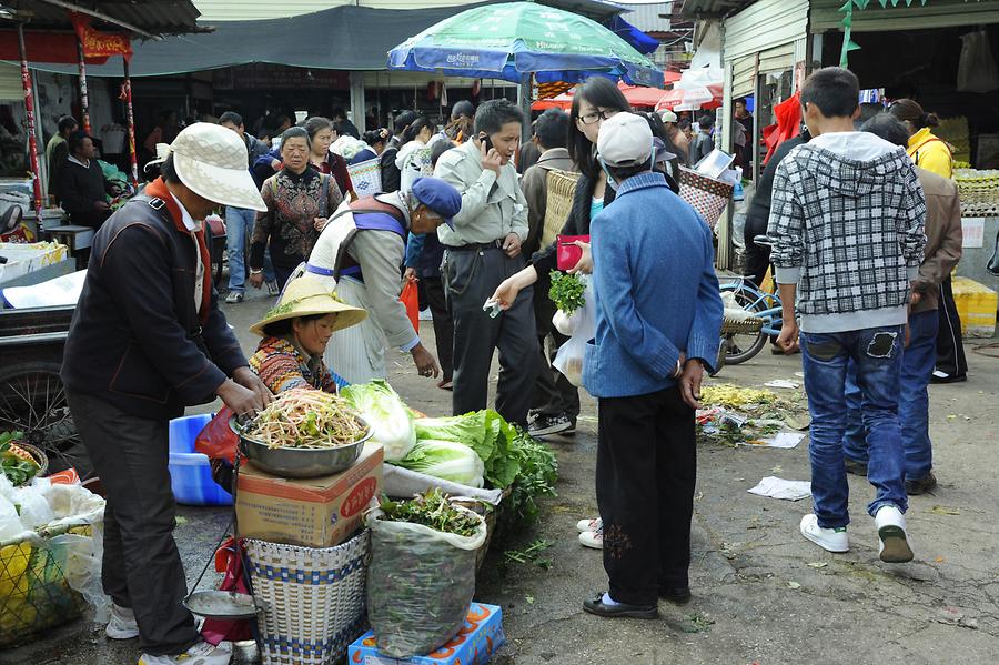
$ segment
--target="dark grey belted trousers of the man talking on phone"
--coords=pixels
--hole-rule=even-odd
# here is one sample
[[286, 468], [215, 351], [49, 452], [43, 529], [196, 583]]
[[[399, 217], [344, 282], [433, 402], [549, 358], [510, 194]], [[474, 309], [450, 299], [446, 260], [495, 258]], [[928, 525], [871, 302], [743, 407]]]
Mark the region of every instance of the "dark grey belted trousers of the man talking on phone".
[[533, 289], [521, 291], [513, 306], [492, 319], [482, 306], [496, 286], [524, 268], [500, 249], [448, 250], [442, 272], [454, 319], [455, 415], [486, 407], [493, 352], [500, 351], [496, 411], [511, 423], [527, 424], [537, 375], [537, 336]]

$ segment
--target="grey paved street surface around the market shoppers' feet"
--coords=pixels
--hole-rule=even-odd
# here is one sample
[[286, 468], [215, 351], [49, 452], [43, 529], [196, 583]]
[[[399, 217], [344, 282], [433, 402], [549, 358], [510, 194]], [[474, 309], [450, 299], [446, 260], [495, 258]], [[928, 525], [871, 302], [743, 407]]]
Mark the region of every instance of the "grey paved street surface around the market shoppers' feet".
[[[248, 352], [244, 331], [273, 301], [254, 294], [228, 306]], [[423, 334], [431, 337], [430, 323]], [[434, 349], [433, 343], [427, 344]], [[500, 665], [629, 663], [790, 664], [879, 663], [906, 665], [995, 663], [999, 653], [999, 523], [995, 487], [997, 360], [971, 352], [966, 384], [931, 387], [931, 433], [940, 486], [912, 497], [907, 515], [917, 560], [885, 565], [864, 510], [872, 496], [851, 476], [852, 551], [833, 555], [798, 534], [809, 511], [797, 503], [747, 494], [763, 476], [808, 480], [807, 440], [795, 450], [703, 445], [694, 517], [694, 598], [684, 607], [660, 605], [658, 621], [601, 619], [581, 603], [605, 588], [601, 553], [576, 541], [576, 521], [596, 515], [593, 477], [596, 411], [584, 401], [579, 431], [553, 442], [561, 464], [558, 497], [543, 520], [509, 542], [494, 542], [476, 599], [503, 606], [508, 644]], [[795, 379], [800, 356], [765, 350], [749, 363], [726, 367], [716, 381], [761, 386]], [[404, 400], [428, 414], [446, 414], [450, 393], [416, 376], [400, 356], [392, 382]], [[193, 583], [228, 514], [182, 507], [176, 538]], [[505, 550], [537, 538], [552, 547], [534, 563], [505, 564]], [[79, 621], [44, 639], [0, 654], [0, 664], [124, 665], [138, 659], [135, 643], [112, 644], [100, 626]], [[239, 658], [239, 662], [245, 662]]]

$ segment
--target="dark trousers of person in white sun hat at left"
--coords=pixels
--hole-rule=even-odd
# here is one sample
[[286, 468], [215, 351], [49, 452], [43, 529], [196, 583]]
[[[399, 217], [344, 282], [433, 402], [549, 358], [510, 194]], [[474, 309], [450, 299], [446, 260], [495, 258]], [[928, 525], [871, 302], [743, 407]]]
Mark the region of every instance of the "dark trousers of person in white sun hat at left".
[[181, 604], [188, 581], [173, 540], [168, 423], [130, 415], [82, 393], [68, 392], [67, 399], [107, 493], [104, 593], [135, 613], [144, 652], [183, 653], [198, 632]]

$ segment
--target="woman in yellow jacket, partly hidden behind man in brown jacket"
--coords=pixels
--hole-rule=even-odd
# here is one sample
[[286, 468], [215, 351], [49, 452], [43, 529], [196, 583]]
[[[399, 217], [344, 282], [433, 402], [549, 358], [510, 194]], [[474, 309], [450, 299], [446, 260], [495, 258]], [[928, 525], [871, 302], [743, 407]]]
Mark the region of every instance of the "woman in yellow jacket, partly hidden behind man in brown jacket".
[[[927, 113], [911, 99], [891, 102], [888, 112], [906, 123], [909, 130], [907, 152], [917, 167], [937, 175], [953, 175], [953, 155], [950, 147], [935, 137], [931, 128], [940, 124], [935, 113]], [[950, 275], [940, 284], [940, 329], [937, 333], [937, 366], [930, 377], [932, 383], [957, 383], [968, 379], [968, 361], [961, 342], [961, 318], [953, 302]]]

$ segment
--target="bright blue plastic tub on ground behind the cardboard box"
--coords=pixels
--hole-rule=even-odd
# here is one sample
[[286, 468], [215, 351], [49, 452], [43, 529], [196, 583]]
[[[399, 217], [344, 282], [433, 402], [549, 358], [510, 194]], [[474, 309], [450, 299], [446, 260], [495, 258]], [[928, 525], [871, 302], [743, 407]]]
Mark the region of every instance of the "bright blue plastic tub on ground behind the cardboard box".
[[213, 416], [203, 413], [170, 421], [170, 486], [178, 503], [232, 505], [232, 495], [212, 480], [208, 455], [194, 452], [194, 440]]

